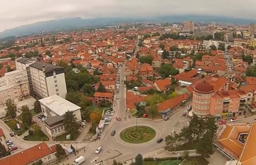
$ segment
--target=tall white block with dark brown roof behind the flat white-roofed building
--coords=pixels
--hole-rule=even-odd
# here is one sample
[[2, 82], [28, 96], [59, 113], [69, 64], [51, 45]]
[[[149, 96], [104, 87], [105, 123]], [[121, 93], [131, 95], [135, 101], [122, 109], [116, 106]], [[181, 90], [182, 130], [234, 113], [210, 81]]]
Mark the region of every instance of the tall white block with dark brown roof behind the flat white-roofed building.
[[41, 98], [52, 95], [66, 96], [64, 68], [43, 62], [30, 64], [34, 92]]

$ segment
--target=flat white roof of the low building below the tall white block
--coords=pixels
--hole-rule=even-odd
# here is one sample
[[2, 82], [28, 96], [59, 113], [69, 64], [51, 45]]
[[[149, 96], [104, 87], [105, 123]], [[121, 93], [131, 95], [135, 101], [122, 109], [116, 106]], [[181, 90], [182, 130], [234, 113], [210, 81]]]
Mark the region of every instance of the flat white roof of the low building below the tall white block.
[[73, 112], [81, 108], [76, 104], [73, 104], [70, 101], [63, 99], [58, 95], [53, 95], [47, 98], [40, 99], [39, 102], [44, 104], [46, 107], [48, 107], [49, 109], [51, 109], [53, 112], [55, 112], [60, 116], [65, 114], [65, 112], [67, 111]]

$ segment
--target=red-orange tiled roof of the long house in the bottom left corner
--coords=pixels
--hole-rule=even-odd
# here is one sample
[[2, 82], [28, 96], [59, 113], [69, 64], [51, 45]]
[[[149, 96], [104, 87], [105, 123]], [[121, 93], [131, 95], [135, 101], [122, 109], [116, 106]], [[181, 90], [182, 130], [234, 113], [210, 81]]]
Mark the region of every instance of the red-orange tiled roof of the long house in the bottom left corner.
[[17, 154], [0, 160], [0, 165], [27, 165], [54, 152], [56, 152], [55, 146], [49, 147], [43, 142], [23, 152], [18, 152]]

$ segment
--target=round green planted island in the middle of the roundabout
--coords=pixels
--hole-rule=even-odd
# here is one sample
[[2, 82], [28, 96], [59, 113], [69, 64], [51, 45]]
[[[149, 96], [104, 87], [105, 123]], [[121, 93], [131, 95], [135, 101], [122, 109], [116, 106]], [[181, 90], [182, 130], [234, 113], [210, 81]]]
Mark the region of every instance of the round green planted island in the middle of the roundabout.
[[133, 126], [122, 130], [120, 138], [127, 143], [145, 143], [156, 136], [156, 131], [147, 126]]

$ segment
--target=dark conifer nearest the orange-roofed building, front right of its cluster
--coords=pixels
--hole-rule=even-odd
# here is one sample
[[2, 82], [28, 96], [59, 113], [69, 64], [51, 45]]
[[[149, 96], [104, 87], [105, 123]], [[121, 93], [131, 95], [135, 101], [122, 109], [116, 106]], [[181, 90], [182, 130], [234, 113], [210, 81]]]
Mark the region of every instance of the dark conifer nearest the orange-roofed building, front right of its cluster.
[[204, 158], [209, 158], [210, 155], [214, 153], [213, 150], [213, 139], [209, 134], [204, 134], [203, 138], [201, 139], [200, 143], [196, 148], [196, 153], [201, 154]]

